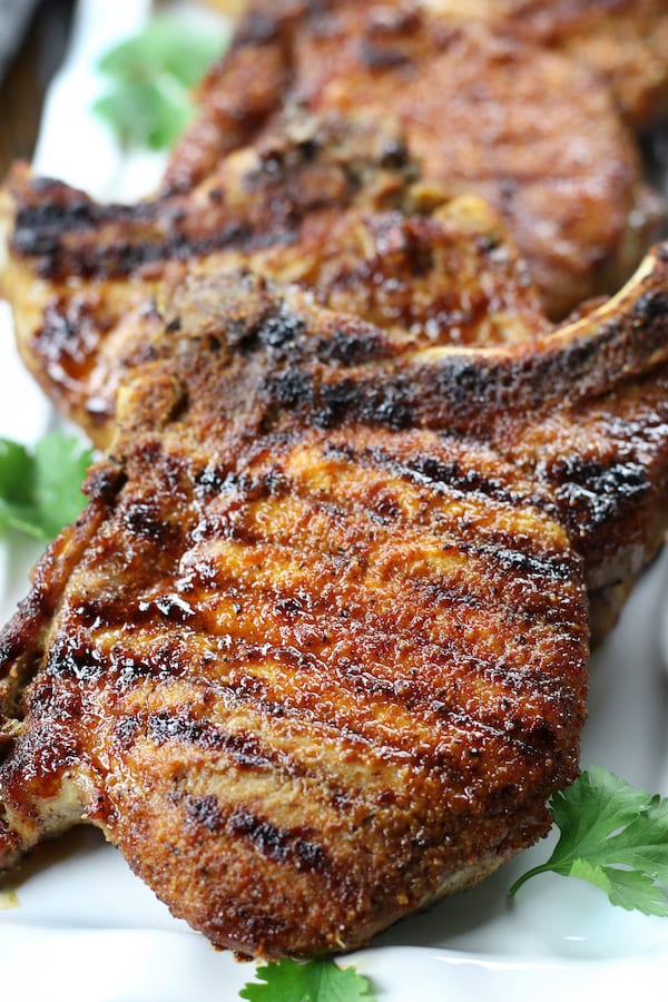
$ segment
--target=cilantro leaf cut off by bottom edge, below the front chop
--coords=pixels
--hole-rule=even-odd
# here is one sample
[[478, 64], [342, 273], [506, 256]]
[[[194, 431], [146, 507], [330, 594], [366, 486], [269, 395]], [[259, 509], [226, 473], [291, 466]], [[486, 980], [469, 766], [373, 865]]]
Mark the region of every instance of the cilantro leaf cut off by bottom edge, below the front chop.
[[333, 961], [282, 960], [256, 971], [263, 982], [249, 982], [239, 992], [249, 1002], [374, 1002], [366, 978], [354, 967]]

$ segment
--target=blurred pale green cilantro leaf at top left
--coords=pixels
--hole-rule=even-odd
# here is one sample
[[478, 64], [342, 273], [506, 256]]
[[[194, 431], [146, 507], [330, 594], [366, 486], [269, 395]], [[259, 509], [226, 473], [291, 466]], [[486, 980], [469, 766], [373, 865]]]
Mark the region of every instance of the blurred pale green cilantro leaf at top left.
[[92, 106], [125, 146], [174, 146], [194, 112], [190, 89], [224, 49], [226, 32], [195, 30], [179, 18], [154, 18], [110, 49], [99, 69], [109, 91]]

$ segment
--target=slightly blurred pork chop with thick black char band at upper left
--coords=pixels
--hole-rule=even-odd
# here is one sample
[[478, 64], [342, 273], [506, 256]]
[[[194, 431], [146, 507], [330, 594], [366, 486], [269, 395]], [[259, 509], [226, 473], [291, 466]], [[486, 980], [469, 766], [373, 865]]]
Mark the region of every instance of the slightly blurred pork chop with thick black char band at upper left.
[[222, 264], [299, 283], [415, 346], [528, 341], [548, 324], [528, 269], [480, 199], [421, 181], [397, 131], [289, 119], [194, 191], [136, 206], [14, 169], [1, 292], [55, 404], [100, 445], [116, 391], [150, 358], [153, 301]]

